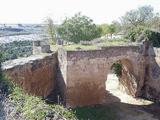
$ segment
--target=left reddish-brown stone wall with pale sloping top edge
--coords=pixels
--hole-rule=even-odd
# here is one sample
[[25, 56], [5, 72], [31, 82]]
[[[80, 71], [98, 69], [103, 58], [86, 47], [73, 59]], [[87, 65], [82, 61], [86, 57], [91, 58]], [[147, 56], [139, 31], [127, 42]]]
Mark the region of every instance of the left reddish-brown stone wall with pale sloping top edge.
[[46, 97], [55, 87], [57, 54], [32, 56], [4, 63], [8, 78], [28, 93]]

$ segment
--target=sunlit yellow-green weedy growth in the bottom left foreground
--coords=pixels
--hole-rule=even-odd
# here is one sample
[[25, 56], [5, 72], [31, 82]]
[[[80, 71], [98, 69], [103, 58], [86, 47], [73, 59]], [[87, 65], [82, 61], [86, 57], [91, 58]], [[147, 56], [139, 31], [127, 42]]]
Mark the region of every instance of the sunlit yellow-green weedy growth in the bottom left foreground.
[[18, 86], [14, 87], [9, 99], [16, 105], [16, 112], [26, 120], [44, 120], [47, 116], [49, 118], [58, 116], [67, 120], [76, 119], [73, 111], [60, 105], [47, 104], [41, 97], [28, 95]]

